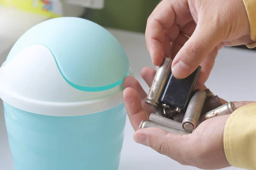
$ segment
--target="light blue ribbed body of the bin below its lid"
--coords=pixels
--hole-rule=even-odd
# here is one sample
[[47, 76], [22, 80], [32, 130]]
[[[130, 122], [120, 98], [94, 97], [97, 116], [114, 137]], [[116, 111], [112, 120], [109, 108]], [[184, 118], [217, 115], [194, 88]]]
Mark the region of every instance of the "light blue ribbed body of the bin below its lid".
[[15, 170], [117, 170], [124, 105], [82, 116], [45, 116], [4, 103]]

